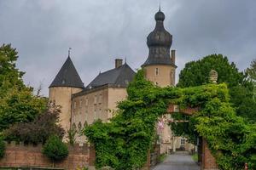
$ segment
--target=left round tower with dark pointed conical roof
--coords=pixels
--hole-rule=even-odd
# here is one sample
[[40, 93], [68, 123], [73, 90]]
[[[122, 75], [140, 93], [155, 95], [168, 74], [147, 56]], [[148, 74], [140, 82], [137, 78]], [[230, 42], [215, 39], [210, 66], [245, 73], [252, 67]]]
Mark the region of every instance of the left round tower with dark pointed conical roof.
[[68, 54], [67, 60], [49, 86], [49, 101], [61, 105], [60, 123], [66, 131], [71, 126], [72, 94], [79, 93], [83, 88], [84, 83]]

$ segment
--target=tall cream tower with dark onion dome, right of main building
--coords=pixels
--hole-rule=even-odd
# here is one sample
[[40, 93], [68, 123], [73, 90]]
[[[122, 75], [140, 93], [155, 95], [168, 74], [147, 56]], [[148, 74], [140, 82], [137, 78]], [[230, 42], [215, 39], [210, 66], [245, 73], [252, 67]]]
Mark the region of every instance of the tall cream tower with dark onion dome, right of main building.
[[154, 15], [156, 25], [147, 37], [149, 48], [148, 59], [142, 65], [149, 81], [160, 87], [175, 85], [175, 50], [172, 46], [172, 35], [164, 27], [165, 14], [160, 10]]

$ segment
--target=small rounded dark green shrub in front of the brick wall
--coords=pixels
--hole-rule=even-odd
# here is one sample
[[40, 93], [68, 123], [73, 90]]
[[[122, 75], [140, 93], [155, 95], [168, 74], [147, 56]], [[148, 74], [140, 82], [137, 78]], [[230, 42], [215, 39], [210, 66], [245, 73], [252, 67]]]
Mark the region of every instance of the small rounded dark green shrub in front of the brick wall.
[[43, 154], [53, 162], [61, 161], [68, 156], [67, 145], [58, 136], [50, 136], [44, 144]]

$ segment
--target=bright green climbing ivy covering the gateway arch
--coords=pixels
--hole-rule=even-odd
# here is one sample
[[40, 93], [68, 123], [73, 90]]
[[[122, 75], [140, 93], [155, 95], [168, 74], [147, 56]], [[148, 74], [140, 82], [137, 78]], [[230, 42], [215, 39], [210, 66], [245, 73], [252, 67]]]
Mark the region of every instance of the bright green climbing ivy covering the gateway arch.
[[95, 145], [96, 167], [116, 170], [143, 167], [154, 142], [155, 123], [168, 105], [200, 108], [194, 116], [195, 132], [207, 140], [220, 169], [241, 169], [256, 164], [256, 127], [236, 116], [226, 84], [194, 88], [159, 88], [138, 71], [111, 122], [96, 121], [84, 128]]

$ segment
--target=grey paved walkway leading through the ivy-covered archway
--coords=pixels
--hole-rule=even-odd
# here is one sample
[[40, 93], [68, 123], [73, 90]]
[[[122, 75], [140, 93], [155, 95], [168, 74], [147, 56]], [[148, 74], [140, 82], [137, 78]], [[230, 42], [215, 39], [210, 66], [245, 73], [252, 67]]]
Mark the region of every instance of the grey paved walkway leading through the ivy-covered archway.
[[153, 170], [200, 170], [200, 167], [189, 155], [169, 155]]

